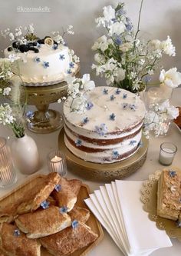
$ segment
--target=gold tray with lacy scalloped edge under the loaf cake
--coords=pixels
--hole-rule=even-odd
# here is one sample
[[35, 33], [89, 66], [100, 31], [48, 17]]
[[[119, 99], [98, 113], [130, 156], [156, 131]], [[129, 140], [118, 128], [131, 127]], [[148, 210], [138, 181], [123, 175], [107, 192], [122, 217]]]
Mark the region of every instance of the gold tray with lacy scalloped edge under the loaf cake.
[[157, 228], [166, 231], [169, 238], [177, 238], [181, 241], [181, 228], [176, 227], [176, 221], [157, 215], [157, 183], [160, 175], [161, 171], [158, 170], [153, 175], [149, 175], [148, 180], [143, 181], [140, 198], [143, 202], [143, 210], [148, 213], [151, 221], [156, 222]]

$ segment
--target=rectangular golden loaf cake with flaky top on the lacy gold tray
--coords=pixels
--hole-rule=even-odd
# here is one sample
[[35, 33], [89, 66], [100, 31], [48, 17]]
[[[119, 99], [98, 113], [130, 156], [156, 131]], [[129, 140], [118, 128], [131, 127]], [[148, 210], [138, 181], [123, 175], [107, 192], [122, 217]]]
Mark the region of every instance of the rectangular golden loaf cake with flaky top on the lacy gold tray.
[[158, 181], [157, 214], [176, 221], [181, 210], [181, 172], [178, 168], [163, 169]]

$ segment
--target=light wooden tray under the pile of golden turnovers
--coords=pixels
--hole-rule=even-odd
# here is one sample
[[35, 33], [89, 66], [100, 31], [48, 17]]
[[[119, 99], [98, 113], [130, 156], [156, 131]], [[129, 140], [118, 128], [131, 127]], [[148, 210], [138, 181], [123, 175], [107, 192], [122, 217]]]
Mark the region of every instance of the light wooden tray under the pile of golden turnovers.
[[[15, 209], [16, 205], [20, 204], [23, 201], [25, 194], [28, 194], [28, 191], [31, 190], [32, 187], [35, 187], [35, 185], [37, 185], [38, 182], [40, 182], [41, 179], [44, 177], [45, 175], [36, 175], [33, 178], [28, 179], [28, 181], [25, 181], [23, 185], [20, 185], [18, 188], [15, 188], [13, 191], [0, 198], [0, 223], [3, 220], [1, 216], [1, 212], [3, 211], [3, 209], [8, 206], [8, 212], [9, 214], [11, 214], [11, 211]], [[81, 189], [79, 191], [79, 194], [77, 195], [76, 205], [81, 208], [87, 208], [87, 205], [84, 203], [84, 199], [87, 198], [89, 194], [90, 190], [88, 186], [84, 184], [81, 185]], [[70, 254], [71, 256], [86, 255], [89, 251], [91, 251], [92, 248], [96, 247], [97, 244], [99, 244], [104, 237], [103, 229], [101, 228], [100, 223], [97, 221], [97, 218], [95, 218], [94, 214], [92, 214], [91, 212], [90, 218], [88, 219], [86, 224], [91, 228], [92, 231], [94, 231], [98, 235], [98, 238], [92, 244], [87, 245], [87, 247], [74, 251], [73, 254]], [[41, 246], [41, 256], [52, 256], [52, 254], [49, 254], [48, 251], [46, 251]]]

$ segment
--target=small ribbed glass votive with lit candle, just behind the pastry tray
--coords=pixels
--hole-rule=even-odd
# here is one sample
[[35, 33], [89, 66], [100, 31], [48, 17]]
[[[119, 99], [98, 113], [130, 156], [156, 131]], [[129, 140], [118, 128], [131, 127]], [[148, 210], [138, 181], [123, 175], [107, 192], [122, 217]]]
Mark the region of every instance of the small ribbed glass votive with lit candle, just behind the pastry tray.
[[48, 154], [48, 168], [51, 172], [58, 172], [61, 177], [67, 175], [67, 163], [64, 154], [59, 150]]

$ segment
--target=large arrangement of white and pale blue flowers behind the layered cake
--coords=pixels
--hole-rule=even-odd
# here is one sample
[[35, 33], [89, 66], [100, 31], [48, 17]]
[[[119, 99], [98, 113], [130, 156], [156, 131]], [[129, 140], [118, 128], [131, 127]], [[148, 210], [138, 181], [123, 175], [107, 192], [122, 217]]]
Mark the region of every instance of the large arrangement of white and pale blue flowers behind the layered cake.
[[[159, 68], [163, 55], [175, 56], [175, 47], [171, 38], [160, 41], [138, 38], [140, 32], [140, 14], [137, 31], [124, 10], [124, 4], [116, 8], [104, 7], [103, 16], [96, 19], [97, 27], [104, 27], [106, 35], [102, 35], [94, 43], [92, 49], [96, 64], [92, 68], [96, 75], [104, 76], [107, 85], [138, 92], [146, 88], [151, 75]], [[175, 88], [181, 83], [181, 74], [176, 68], [161, 70], [160, 82]]]

